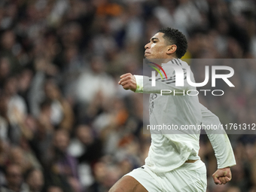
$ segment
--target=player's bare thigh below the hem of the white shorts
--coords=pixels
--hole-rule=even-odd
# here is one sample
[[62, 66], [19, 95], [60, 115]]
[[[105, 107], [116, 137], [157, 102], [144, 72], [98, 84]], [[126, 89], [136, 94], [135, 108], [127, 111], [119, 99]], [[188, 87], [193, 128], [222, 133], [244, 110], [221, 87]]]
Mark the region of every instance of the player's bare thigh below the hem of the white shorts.
[[148, 192], [135, 178], [126, 175], [120, 178], [109, 192]]

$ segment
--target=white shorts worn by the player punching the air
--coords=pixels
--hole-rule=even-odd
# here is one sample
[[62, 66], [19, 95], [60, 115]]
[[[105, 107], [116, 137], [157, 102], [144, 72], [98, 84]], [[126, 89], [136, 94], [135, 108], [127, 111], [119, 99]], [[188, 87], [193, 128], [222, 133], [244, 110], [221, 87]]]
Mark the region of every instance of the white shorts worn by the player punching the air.
[[139, 181], [148, 192], [205, 192], [207, 187], [206, 166], [201, 160], [184, 163], [169, 172], [152, 172], [142, 166], [126, 175]]

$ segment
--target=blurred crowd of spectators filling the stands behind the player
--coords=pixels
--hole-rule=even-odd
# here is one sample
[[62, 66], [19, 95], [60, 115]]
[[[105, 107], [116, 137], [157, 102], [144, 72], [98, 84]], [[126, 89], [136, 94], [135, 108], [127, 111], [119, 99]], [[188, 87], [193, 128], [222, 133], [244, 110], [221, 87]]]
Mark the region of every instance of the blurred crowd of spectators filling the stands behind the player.
[[[184, 59], [241, 59], [236, 88], [200, 101], [222, 123], [256, 123], [253, 0], [2, 0], [1, 192], [106, 192], [144, 164], [148, 101], [117, 82], [142, 75], [144, 46], [163, 26], [186, 35]], [[191, 68], [202, 82], [200, 66]], [[229, 137], [233, 179], [215, 185], [214, 151], [201, 136], [207, 191], [255, 192], [256, 137]]]

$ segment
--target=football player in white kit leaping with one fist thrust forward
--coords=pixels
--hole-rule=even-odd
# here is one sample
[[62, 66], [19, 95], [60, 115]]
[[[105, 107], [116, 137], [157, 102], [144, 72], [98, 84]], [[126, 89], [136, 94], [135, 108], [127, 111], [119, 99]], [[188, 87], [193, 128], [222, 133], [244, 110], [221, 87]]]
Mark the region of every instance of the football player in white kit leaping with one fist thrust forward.
[[[189, 69], [187, 63], [180, 59], [186, 50], [187, 40], [181, 32], [172, 28], [160, 29], [145, 45], [145, 58], [165, 60], [171, 66], [163, 66], [168, 78], [165, 81], [157, 78], [156, 86], [152, 87], [151, 78], [130, 73], [120, 76], [118, 83], [125, 90], [151, 93], [149, 111], [152, 126], [175, 124], [181, 127], [220, 123], [215, 114], [200, 104], [197, 96], [173, 94], [175, 91], [182, 93], [184, 90], [196, 90], [187, 81], [184, 81], [184, 87], [175, 86], [175, 65]], [[184, 75], [187, 72], [184, 71]], [[192, 72], [190, 79], [194, 81]], [[161, 90], [172, 92], [162, 95]], [[218, 134], [214, 134], [214, 130], [206, 130], [206, 133], [218, 162], [218, 170], [212, 177], [215, 184], [226, 184], [231, 180], [230, 166], [236, 165], [230, 141], [224, 130], [218, 130]], [[206, 191], [206, 166], [198, 156], [199, 139], [200, 130], [189, 133], [184, 130], [176, 130], [174, 133], [161, 130], [160, 134], [151, 131], [151, 147], [145, 166], [124, 175], [109, 191]]]

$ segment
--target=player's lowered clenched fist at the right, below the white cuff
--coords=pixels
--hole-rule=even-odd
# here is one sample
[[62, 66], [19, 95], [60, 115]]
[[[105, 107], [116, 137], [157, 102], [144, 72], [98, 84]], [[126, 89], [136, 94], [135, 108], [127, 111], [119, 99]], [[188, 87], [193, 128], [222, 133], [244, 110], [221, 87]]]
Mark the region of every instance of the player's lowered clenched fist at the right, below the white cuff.
[[212, 178], [215, 184], [226, 184], [232, 178], [230, 167], [218, 169], [213, 173]]

